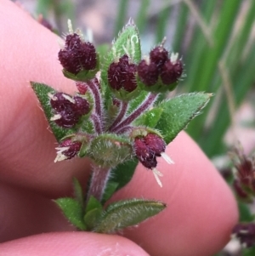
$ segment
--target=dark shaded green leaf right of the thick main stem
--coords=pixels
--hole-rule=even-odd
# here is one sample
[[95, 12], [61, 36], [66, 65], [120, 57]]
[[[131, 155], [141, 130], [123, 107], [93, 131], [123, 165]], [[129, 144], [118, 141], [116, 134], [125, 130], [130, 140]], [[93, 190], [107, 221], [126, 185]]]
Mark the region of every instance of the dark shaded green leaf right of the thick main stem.
[[138, 160], [123, 162], [111, 171], [111, 177], [108, 182], [117, 183], [116, 191], [120, 190], [124, 185], [132, 179]]

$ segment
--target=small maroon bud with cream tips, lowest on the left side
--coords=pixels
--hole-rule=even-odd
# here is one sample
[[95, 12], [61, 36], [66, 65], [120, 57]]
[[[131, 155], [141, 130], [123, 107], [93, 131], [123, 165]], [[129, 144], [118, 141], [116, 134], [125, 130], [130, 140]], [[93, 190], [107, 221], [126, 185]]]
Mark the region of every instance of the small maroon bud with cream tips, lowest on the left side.
[[57, 147], [58, 154], [55, 162], [73, 158], [80, 151], [81, 147], [81, 141], [72, 141], [71, 139], [65, 139], [59, 144], [59, 147]]

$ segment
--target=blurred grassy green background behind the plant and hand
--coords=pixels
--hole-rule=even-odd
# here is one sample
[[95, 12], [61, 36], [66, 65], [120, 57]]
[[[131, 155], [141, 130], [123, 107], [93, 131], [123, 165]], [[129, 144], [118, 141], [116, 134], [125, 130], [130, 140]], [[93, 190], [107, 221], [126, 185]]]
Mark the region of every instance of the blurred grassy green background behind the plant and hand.
[[[174, 94], [195, 91], [214, 94], [187, 132], [219, 170], [229, 168], [227, 152], [238, 140], [246, 153], [253, 151], [254, 0], [20, 0], [19, 3], [35, 19], [42, 20], [43, 16], [59, 35], [67, 32], [67, 19], [72, 20], [75, 28], [93, 31], [97, 46], [111, 43], [130, 17], [139, 28], [143, 54], [167, 37], [165, 47], [182, 56], [186, 73]], [[231, 184], [229, 180], [228, 176]], [[250, 206], [240, 203], [240, 208], [241, 220], [250, 221]], [[229, 245], [228, 250], [218, 255], [255, 255], [255, 251], [247, 254], [235, 244], [233, 247]]]

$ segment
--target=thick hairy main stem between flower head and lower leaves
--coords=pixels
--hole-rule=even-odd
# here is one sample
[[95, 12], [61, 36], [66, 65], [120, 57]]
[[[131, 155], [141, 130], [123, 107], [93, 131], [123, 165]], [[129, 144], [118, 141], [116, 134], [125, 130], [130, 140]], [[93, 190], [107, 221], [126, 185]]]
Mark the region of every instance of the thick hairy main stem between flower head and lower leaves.
[[102, 199], [110, 174], [111, 168], [100, 168], [99, 166], [94, 165], [88, 189], [88, 199], [90, 196], [94, 196], [99, 201]]

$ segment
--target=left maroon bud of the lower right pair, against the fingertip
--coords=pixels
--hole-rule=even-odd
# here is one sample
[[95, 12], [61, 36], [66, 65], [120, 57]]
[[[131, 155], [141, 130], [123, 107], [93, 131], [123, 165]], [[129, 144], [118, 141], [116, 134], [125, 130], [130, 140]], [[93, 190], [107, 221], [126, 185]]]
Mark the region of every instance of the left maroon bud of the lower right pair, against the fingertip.
[[145, 144], [143, 138], [135, 138], [133, 145], [134, 153], [145, 168], [156, 168], [156, 155], [150, 150], [150, 147]]

